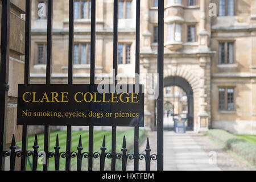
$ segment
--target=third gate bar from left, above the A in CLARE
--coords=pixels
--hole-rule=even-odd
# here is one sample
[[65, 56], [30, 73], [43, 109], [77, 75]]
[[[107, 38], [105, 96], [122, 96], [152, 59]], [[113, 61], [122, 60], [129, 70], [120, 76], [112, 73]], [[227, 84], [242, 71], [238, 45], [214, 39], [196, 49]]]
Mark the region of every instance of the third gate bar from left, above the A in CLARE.
[[[47, 60], [46, 60], [46, 85], [51, 84], [52, 75], [52, 13], [53, 13], [53, 1], [48, 0], [47, 6]], [[46, 164], [43, 166], [44, 171], [48, 171], [49, 167], [49, 126], [44, 126], [44, 152], [46, 152]]]

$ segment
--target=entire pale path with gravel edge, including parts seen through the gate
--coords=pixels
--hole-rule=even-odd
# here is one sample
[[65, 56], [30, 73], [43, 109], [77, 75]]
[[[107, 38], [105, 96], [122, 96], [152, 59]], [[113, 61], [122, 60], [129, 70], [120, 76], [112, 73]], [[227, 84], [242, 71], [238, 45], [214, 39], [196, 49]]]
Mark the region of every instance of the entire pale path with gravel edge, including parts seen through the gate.
[[[156, 154], [157, 137], [156, 131], [148, 132], [151, 154]], [[144, 153], [146, 140], [139, 148]], [[212, 159], [208, 154], [216, 152], [216, 165], [209, 164]], [[133, 162], [127, 165], [128, 171], [133, 171]], [[139, 170], [145, 169], [144, 160], [139, 161]], [[151, 161], [151, 171], [156, 170], [156, 161]], [[205, 137], [203, 134], [187, 132], [176, 134], [174, 131], [164, 131], [164, 170], [165, 171], [186, 171], [186, 170], [253, 170], [247, 167], [240, 159], [235, 158], [220, 146]]]

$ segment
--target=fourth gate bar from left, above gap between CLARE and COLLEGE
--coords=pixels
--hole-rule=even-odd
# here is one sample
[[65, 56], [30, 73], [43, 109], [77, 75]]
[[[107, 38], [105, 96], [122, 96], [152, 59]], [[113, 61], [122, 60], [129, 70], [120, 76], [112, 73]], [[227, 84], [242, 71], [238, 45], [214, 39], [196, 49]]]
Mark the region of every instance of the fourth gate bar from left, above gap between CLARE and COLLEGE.
[[[68, 40], [68, 84], [73, 84], [74, 55], [74, 0], [69, 0], [69, 40]], [[72, 126], [67, 126], [66, 171], [71, 168], [71, 138]]]

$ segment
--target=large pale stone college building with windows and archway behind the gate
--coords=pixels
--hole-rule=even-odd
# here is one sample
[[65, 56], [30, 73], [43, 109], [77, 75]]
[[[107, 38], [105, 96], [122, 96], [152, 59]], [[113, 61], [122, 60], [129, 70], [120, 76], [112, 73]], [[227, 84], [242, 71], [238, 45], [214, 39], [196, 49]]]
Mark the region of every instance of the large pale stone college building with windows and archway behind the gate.
[[[67, 84], [68, 0], [53, 2], [52, 82]], [[220, 128], [256, 133], [256, 2], [164, 0], [164, 86], [187, 94], [193, 131]], [[46, 80], [47, 1], [32, 1], [31, 82]], [[134, 80], [135, 3], [119, 1], [118, 73]], [[157, 71], [157, 0], [141, 0], [141, 73]], [[96, 1], [96, 80], [111, 77], [113, 1]], [[89, 83], [90, 0], [75, 1], [74, 82]], [[148, 88], [147, 80], [142, 84]], [[155, 101], [145, 97], [145, 121], [155, 128]]]

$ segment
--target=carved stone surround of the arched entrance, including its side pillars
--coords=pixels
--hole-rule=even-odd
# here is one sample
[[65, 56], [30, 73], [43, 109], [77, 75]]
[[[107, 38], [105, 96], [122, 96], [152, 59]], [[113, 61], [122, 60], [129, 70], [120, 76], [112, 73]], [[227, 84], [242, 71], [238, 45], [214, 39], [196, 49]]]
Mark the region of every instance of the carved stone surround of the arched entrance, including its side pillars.
[[[143, 56], [143, 73], [155, 73], [157, 68], [155, 57], [152, 57], [152, 55]], [[191, 114], [193, 114], [193, 131], [197, 133], [207, 131], [211, 119], [211, 98], [209, 97], [211, 92], [210, 57], [199, 56], [197, 57], [197, 60], [192, 60], [192, 57], [184, 59], [184, 57], [174, 57], [174, 55], [169, 57], [166, 55], [166, 57], [164, 57], [163, 74], [165, 80], [164, 86], [168, 85], [168, 78], [180, 77], [187, 82], [190, 88], [192, 88], [193, 94], [190, 95], [193, 96], [193, 99], [189, 99], [191, 102], [189, 105], [193, 106], [191, 107], [193, 108], [191, 111]], [[179, 81], [176, 81], [176, 83], [179, 84]], [[152, 83], [146, 81], [146, 84], [148, 86]], [[169, 84], [171, 83], [169, 82]], [[156, 101], [148, 100], [147, 98], [145, 101], [145, 110], [147, 113], [146, 122], [149, 122], [151, 129], [154, 130], [157, 124], [157, 113], [155, 110]]]

